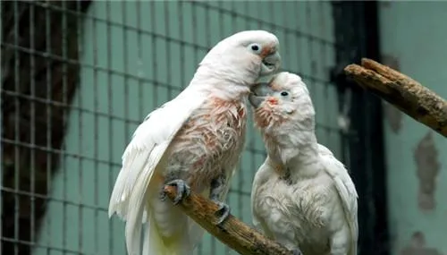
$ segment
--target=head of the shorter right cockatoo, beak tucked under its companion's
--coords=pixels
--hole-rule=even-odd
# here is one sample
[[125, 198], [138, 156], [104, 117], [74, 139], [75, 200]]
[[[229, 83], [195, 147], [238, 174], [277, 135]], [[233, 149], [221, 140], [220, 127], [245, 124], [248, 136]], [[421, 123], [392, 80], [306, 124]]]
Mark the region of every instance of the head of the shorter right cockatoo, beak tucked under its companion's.
[[[315, 110], [308, 88], [291, 72], [280, 72], [269, 82], [251, 88], [249, 102], [254, 107], [255, 125], [275, 140], [291, 140], [291, 135], [314, 133]], [[304, 139], [304, 137], [296, 137]]]

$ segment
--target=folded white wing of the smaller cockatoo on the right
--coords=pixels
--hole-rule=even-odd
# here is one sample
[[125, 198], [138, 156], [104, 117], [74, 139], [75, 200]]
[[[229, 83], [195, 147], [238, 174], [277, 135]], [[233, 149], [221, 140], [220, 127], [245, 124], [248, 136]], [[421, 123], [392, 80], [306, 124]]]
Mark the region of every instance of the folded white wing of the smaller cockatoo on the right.
[[335, 188], [342, 199], [344, 215], [350, 225], [352, 240], [350, 255], [357, 255], [358, 194], [356, 187], [350, 179], [348, 170], [343, 166], [342, 162], [333, 156], [331, 150], [325, 148], [325, 146], [321, 144], [318, 144], [318, 151], [325, 164], [325, 171], [333, 178]]

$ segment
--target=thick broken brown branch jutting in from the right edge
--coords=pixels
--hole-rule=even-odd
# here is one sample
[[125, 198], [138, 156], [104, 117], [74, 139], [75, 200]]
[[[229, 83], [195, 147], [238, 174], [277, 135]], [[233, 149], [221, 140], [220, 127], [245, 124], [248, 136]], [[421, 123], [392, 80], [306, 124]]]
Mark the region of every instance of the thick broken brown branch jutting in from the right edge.
[[361, 65], [350, 64], [344, 72], [364, 89], [447, 137], [447, 102], [443, 98], [401, 72], [371, 59], [363, 58]]

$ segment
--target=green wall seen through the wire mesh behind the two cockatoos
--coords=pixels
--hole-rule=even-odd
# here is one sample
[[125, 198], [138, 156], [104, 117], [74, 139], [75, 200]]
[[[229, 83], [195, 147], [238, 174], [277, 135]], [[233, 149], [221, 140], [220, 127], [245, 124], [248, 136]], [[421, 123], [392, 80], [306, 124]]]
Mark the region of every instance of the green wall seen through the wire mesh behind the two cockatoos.
[[[270, 30], [278, 36], [283, 67], [308, 83], [318, 139], [340, 157], [338, 106], [328, 84], [334, 64], [330, 3], [214, 2], [207, 7], [203, 2], [97, 1], [83, 22], [84, 65], [69, 116], [67, 154], [53, 181], [55, 200], [49, 203], [35, 254], [125, 254], [124, 225], [117, 217], [109, 221], [106, 210], [131, 133], [148, 112], [188, 84], [209, 47], [239, 30]], [[232, 213], [249, 224], [251, 181], [264, 157], [250, 123], [228, 198]], [[236, 252], [206, 235], [198, 254]]]

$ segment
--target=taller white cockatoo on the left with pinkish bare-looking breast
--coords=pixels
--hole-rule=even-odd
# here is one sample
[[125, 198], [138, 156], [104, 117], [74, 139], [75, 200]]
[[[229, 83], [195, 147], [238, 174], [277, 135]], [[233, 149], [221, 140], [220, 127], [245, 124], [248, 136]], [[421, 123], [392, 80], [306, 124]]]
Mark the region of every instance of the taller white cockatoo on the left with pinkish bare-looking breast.
[[126, 221], [130, 255], [190, 254], [203, 230], [171, 201], [164, 185], [178, 191], [174, 204], [190, 193], [223, 203], [245, 140], [250, 86], [279, 68], [279, 41], [264, 30], [238, 32], [217, 43], [198, 65], [190, 85], [151, 112], [134, 132], [122, 155], [109, 203]]

